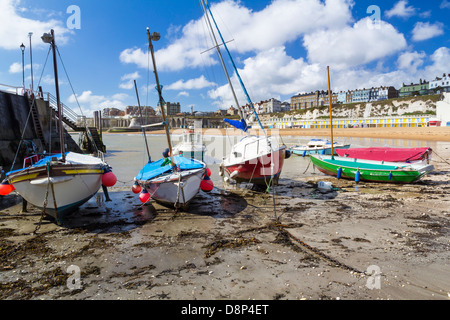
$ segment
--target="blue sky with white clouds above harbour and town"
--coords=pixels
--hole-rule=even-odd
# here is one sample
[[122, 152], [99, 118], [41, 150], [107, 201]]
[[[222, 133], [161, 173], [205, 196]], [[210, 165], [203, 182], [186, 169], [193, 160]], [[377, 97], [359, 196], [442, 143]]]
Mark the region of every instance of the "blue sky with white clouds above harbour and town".
[[[450, 0], [209, 0], [253, 102], [427, 81], [450, 73]], [[61, 100], [92, 116], [107, 107], [158, 102], [146, 28], [165, 101], [181, 111], [234, 105], [199, 0], [0, 0], [0, 89], [55, 94], [49, 45], [55, 30]], [[222, 46], [223, 49], [223, 46]], [[240, 105], [247, 103], [222, 51]], [[47, 60], [48, 57], [48, 60]], [[47, 61], [47, 63], [46, 63]], [[64, 67], [63, 67], [64, 66]], [[66, 74], [67, 72], [67, 74]], [[76, 97], [76, 98], [75, 98]]]

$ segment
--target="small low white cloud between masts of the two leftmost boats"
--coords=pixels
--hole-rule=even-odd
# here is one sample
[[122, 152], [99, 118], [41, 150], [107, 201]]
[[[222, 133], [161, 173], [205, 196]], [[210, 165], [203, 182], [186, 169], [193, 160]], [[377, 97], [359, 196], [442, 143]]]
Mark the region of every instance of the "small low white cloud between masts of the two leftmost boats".
[[81, 95], [75, 96], [72, 94], [68, 102], [76, 103], [77, 100], [80, 103], [82, 112], [85, 116], [92, 116], [93, 111], [102, 110], [104, 108], [118, 108], [123, 109], [125, 107], [125, 100], [128, 98], [127, 94], [119, 93], [110, 97], [102, 95], [94, 95], [92, 91], [83, 91]]

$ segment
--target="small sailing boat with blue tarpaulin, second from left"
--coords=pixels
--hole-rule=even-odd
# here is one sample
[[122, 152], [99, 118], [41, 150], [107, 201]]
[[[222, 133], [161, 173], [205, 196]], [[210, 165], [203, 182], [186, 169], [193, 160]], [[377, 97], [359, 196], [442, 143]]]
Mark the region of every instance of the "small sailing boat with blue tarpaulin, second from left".
[[[174, 206], [176, 209], [180, 207], [186, 208], [189, 202], [199, 192], [201, 185], [206, 184], [207, 186], [210, 186], [212, 181], [209, 179], [209, 176], [206, 175], [206, 164], [204, 162], [182, 156], [174, 156], [173, 152], [170, 152], [170, 150], [172, 150], [172, 143], [166, 121], [164, 111], [165, 102], [162, 97], [162, 86], [159, 84], [152, 44], [152, 40], [159, 40], [160, 35], [157, 32], [150, 34], [150, 31], [147, 28], [147, 36], [156, 78], [159, 106], [161, 107], [161, 114], [163, 117], [163, 122], [160, 125], [164, 126], [168, 148], [163, 152], [163, 158], [155, 162], [151, 162], [149, 159], [149, 162], [141, 169], [135, 177], [133, 192], [141, 192], [139, 199], [143, 203], [147, 203], [150, 199], [154, 199], [164, 205]], [[142, 127], [145, 128], [146, 126]], [[145, 130], [143, 130], [143, 133], [145, 135]], [[210, 191], [208, 187], [202, 189]]]

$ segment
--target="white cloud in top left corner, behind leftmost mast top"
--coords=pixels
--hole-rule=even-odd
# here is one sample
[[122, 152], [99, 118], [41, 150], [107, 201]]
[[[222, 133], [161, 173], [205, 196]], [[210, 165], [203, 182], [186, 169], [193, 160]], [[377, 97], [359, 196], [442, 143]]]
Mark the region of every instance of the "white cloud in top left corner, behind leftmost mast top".
[[[67, 42], [70, 31], [58, 20], [40, 21], [24, 18], [20, 13], [24, 12], [19, 7], [19, 1], [0, 0], [0, 48], [16, 50], [20, 43], [29, 43], [28, 33], [33, 32], [33, 48], [47, 46], [40, 38], [43, 33], [55, 30], [58, 44]], [[39, 39], [39, 40], [38, 40]]]

